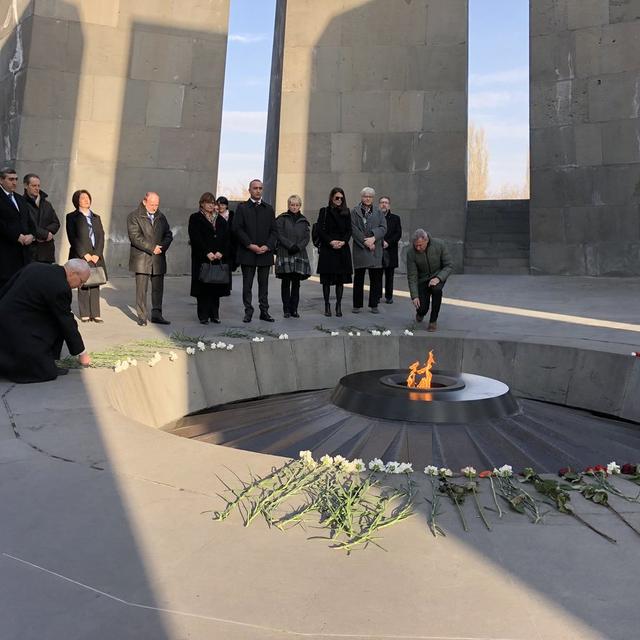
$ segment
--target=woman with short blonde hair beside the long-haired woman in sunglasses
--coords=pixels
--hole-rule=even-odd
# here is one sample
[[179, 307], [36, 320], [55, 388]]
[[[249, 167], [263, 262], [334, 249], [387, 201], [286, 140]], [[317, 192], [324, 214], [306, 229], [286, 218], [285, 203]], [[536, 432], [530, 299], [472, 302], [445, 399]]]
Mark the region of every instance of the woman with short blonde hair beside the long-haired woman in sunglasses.
[[307, 245], [311, 237], [309, 221], [300, 211], [300, 196], [289, 196], [287, 211], [276, 218], [278, 250], [276, 278], [281, 280], [282, 311], [285, 318], [299, 318], [300, 282], [311, 275]]

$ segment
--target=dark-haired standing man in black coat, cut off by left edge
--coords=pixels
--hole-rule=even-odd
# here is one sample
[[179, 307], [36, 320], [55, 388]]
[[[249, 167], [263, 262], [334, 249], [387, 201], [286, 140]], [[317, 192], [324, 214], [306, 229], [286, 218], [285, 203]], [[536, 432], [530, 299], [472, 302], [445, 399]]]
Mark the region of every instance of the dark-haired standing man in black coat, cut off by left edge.
[[31, 262], [36, 227], [24, 198], [15, 193], [18, 174], [0, 169], [0, 287]]

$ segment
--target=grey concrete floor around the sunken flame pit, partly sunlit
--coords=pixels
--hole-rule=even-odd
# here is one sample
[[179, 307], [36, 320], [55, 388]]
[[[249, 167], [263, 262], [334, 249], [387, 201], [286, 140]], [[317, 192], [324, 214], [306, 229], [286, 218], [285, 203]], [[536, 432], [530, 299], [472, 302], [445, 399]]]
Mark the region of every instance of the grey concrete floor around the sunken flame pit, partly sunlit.
[[[172, 325], [140, 328], [128, 307], [131, 280], [114, 279], [103, 291], [105, 324], [81, 330], [98, 350], [172, 330], [247, 329], [239, 284], [222, 303], [223, 324], [202, 327], [187, 279], [168, 278]], [[316, 333], [319, 323], [398, 331], [412, 320], [401, 295], [377, 316], [352, 315], [345, 300], [342, 319], [324, 318], [314, 282], [303, 285], [303, 317], [284, 320], [271, 284], [278, 321], [266, 328], [292, 338]], [[439, 331], [625, 353], [640, 347], [639, 293], [638, 279], [454, 276]], [[220, 505], [216, 474], [262, 473], [280, 460], [124, 418], [104, 393], [112, 375], [92, 369], [41, 385], [0, 381], [2, 640], [635, 637], [640, 539], [599, 507], [579, 503], [617, 545], [553, 515], [533, 526], [508, 514], [487, 532], [469, 510], [465, 533], [449, 505], [446, 538], [431, 537], [419, 505], [412, 519], [384, 531], [386, 552], [348, 557], [307, 540], [313, 529], [214, 523], [206, 512]], [[616, 506], [640, 525], [640, 507]]]

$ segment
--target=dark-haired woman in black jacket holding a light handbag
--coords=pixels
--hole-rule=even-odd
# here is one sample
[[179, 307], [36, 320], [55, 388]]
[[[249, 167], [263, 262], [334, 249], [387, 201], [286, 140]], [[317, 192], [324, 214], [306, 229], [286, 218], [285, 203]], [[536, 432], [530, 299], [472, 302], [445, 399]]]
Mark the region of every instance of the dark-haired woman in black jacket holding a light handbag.
[[91, 194], [79, 189], [71, 202], [75, 211], [66, 216], [69, 259], [86, 260], [91, 275], [86, 284], [78, 289], [78, 311], [82, 322], [103, 322], [100, 317], [100, 285], [107, 282], [104, 263], [104, 229], [100, 216], [91, 210]]

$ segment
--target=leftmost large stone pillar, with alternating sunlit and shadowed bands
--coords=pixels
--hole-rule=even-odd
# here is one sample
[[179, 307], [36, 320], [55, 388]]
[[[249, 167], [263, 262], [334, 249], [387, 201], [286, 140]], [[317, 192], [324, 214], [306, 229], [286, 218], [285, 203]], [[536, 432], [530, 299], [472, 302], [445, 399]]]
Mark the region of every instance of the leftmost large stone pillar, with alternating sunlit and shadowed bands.
[[41, 176], [61, 219], [76, 189], [91, 192], [111, 273], [128, 267], [128, 212], [157, 191], [170, 271], [187, 272], [187, 218], [217, 182], [229, 0], [5, 4], [5, 159]]

